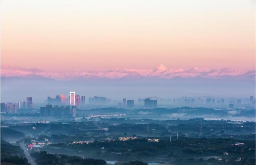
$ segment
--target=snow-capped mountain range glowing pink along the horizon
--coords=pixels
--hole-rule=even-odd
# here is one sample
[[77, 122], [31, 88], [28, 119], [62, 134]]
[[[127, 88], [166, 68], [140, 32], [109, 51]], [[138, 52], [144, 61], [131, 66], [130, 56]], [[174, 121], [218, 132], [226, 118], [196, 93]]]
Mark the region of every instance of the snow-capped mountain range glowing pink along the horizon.
[[194, 78], [203, 77], [209, 79], [250, 79], [255, 80], [255, 70], [241, 71], [236, 68], [208, 69], [194, 67], [189, 70], [167, 68], [159, 65], [155, 69], [112, 69], [106, 71], [88, 72], [47, 72], [37, 68], [22, 68], [10, 65], [1, 65], [1, 77], [46, 77], [56, 80], [71, 79], [142, 79], [162, 78], [173, 79], [174, 77]]

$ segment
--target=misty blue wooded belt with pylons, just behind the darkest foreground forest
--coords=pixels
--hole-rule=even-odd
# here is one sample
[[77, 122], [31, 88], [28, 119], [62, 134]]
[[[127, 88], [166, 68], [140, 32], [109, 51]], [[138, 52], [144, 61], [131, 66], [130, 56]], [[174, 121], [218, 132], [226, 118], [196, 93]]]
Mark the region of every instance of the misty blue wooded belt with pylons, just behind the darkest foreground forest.
[[[201, 127], [202, 132], [200, 133]], [[96, 120], [93, 118], [83, 122], [9, 125], [9, 128], [33, 136], [38, 136], [41, 133], [46, 136], [53, 134], [71, 136], [70, 139], [68, 137], [59, 138], [58, 142], [104, 140], [110, 135], [118, 138], [124, 133], [127, 136], [135, 134], [137, 136], [167, 137], [177, 135], [177, 132], [179, 136], [193, 138], [255, 139], [255, 122], [203, 120], [203, 118], [189, 120], [132, 120], [129, 118], [97, 118]]]

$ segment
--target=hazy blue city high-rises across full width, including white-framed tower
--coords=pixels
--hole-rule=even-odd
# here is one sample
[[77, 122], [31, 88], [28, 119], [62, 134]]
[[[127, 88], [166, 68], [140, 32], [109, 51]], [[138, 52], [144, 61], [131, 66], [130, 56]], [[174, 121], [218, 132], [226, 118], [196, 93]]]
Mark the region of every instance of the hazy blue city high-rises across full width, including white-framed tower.
[[[158, 104], [160, 106], [204, 106], [207, 107], [228, 107], [228, 108], [255, 108], [255, 98], [250, 96], [249, 104], [244, 103], [246, 99], [237, 100], [224, 100], [220, 98], [213, 97], [181, 97], [174, 99], [161, 99], [158, 97], [147, 97], [145, 99], [138, 99], [136, 106], [145, 108], [157, 108]], [[104, 106], [111, 104], [111, 99], [106, 97], [94, 96], [88, 98], [88, 104], [85, 102], [84, 95], [76, 95], [75, 92], [71, 91], [70, 95], [61, 94], [57, 95], [55, 98], [47, 97], [45, 100], [47, 104], [46, 107], [40, 108], [40, 113], [42, 116], [50, 117], [76, 117], [76, 108], [84, 108], [87, 106]], [[118, 101], [116, 102], [118, 103]], [[115, 105], [116, 105], [115, 103]], [[242, 104], [243, 103], [243, 104]], [[122, 99], [122, 102], [118, 103], [118, 107], [123, 108], [134, 108], [134, 100]], [[26, 101], [18, 102], [7, 102], [1, 103], [1, 112], [4, 113], [17, 113], [18, 109], [33, 109], [32, 97], [27, 97]], [[69, 110], [68, 110], [69, 109]]]

